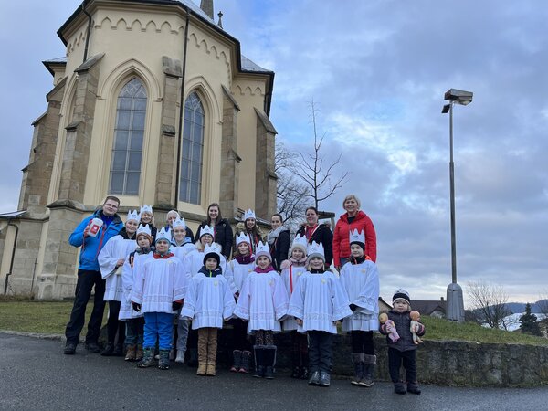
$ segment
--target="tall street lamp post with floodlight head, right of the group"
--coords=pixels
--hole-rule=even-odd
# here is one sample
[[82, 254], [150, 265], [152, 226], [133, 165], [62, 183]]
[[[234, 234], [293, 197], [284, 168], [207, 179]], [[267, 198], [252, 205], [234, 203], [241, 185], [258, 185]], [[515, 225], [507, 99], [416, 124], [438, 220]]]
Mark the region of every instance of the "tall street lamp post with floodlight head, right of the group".
[[451, 201], [451, 283], [448, 285], [447, 311], [449, 321], [464, 321], [464, 299], [462, 288], [457, 284], [457, 246], [455, 240], [455, 165], [453, 163], [453, 106], [468, 105], [472, 101], [471, 91], [450, 89], [444, 99], [448, 104], [443, 106], [442, 113], [449, 113], [449, 184]]

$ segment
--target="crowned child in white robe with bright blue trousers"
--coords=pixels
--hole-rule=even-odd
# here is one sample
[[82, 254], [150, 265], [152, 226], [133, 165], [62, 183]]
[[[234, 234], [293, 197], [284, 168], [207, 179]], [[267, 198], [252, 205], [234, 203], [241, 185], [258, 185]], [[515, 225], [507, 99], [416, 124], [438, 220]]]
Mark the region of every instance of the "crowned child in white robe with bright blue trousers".
[[143, 357], [138, 367], [154, 364], [154, 348], [158, 341], [158, 368], [169, 368], [174, 330], [174, 311], [184, 299], [188, 281], [182, 262], [170, 252], [171, 234], [163, 228], [156, 234], [153, 258], [147, 258], [140, 269], [133, 272], [132, 306], [144, 314]]

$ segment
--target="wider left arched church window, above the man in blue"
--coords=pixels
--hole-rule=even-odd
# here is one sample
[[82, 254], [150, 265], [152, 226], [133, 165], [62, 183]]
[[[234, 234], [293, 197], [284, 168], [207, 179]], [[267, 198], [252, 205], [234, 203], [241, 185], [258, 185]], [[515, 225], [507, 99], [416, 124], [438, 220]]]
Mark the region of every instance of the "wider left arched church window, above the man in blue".
[[145, 114], [146, 90], [140, 79], [131, 79], [121, 89], [116, 106], [110, 194], [139, 194]]

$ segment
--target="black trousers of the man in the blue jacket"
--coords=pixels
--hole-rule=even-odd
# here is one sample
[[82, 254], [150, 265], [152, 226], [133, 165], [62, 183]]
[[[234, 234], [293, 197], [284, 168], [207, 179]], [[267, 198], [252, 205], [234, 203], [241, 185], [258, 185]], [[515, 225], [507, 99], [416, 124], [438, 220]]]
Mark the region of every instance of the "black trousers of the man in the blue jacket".
[[99, 339], [100, 323], [102, 322], [103, 312], [105, 311], [105, 280], [101, 278], [100, 271], [91, 271], [89, 269], [78, 270], [78, 281], [76, 283], [74, 305], [70, 312], [65, 335], [67, 342], [79, 342], [79, 334], [84, 327], [86, 317], [86, 305], [90, 300], [91, 290], [95, 287], [95, 297], [93, 299], [93, 311], [88, 322], [88, 333], [86, 342], [97, 342]]

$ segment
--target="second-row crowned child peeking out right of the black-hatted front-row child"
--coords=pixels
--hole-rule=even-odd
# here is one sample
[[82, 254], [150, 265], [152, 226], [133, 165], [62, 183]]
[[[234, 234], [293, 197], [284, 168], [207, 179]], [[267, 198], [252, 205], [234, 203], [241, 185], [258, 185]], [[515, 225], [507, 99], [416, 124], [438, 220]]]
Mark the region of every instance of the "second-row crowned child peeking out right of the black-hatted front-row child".
[[[251, 240], [246, 233], [236, 235], [236, 254], [227, 264], [225, 277], [230, 289], [237, 299], [244, 281], [250, 272], [255, 269], [255, 256], [251, 253]], [[233, 363], [230, 371], [247, 374], [251, 360], [251, 344], [248, 341], [248, 324], [240, 318], [229, 321], [232, 325], [232, 356]]]

